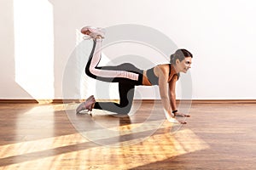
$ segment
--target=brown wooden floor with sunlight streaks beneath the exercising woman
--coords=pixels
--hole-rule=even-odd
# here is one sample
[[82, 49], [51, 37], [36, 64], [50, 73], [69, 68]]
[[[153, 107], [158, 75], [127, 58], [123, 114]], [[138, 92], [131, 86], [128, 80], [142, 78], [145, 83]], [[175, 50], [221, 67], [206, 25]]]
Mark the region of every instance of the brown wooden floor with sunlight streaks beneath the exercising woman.
[[183, 126], [164, 122], [160, 103], [130, 117], [76, 106], [1, 104], [0, 169], [255, 168], [255, 104], [193, 104]]

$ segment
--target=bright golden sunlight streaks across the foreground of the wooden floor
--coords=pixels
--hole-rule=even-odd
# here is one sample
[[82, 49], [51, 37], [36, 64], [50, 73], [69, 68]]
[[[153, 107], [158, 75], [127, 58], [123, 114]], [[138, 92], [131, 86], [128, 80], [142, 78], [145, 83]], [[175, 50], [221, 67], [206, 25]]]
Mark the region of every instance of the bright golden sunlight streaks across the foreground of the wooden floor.
[[[85, 141], [76, 133], [51, 139], [9, 144], [2, 146], [1, 150], [14, 150], [15, 152], [13, 154], [11, 154], [11, 151], [8, 151], [9, 155], [5, 153], [4, 156], [16, 156], [31, 153], [32, 151], [52, 150], [56, 147], [78, 144]], [[17, 150], [19, 148], [20, 150]], [[174, 135], [170, 135], [169, 133], [155, 134], [135, 145], [115, 148], [99, 145], [98, 147], [89, 147], [63, 154], [56, 154], [55, 156], [35, 158], [30, 161], [22, 161], [21, 159], [20, 163], [5, 166], [5, 169], [15, 169], [15, 167], [19, 167], [19, 169], [30, 167], [34, 169], [61, 168], [64, 164], [65, 167], [70, 168], [134, 168], [157, 161], [165, 161], [173, 156], [181, 156], [198, 150], [207, 150], [208, 148], [209, 145], [202, 139], [199, 139], [195, 133], [189, 129], [183, 129]], [[111, 163], [113, 161], [115, 161], [114, 164]]]

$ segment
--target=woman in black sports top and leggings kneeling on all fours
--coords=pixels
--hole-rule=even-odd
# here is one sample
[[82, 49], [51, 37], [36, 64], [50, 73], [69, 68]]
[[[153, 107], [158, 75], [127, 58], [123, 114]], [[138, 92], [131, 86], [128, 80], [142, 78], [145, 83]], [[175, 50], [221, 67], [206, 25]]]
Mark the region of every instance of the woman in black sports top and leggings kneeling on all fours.
[[117, 66], [97, 66], [101, 60], [102, 39], [104, 31], [101, 28], [85, 26], [81, 32], [93, 39], [93, 48], [90, 58], [85, 66], [87, 76], [103, 82], [119, 82], [119, 104], [113, 102], [96, 102], [91, 95], [82, 102], [76, 112], [92, 111], [92, 109], [112, 111], [120, 115], [127, 115], [131, 111], [135, 86], [159, 86], [160, 98], [166, 118], [169, 122], [185, 124], [177, 121], [175, 116], [189, 116], [177, 111], [176, 106], [176, 82], [179, 72], [186, 73], [191, 65], [193, 55], [186, 49], [177, 49], [171, 55], [170, 63], [155, 65], [153, 68], [143, 71], [129, 63]]

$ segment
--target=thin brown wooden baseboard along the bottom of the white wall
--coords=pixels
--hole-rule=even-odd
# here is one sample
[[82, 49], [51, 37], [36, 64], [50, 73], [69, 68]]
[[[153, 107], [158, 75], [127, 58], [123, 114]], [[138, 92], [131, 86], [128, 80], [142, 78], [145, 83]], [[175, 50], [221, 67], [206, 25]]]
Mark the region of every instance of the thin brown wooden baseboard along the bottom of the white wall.
[[[84, 99], [0, 99], [0, 104], [63, 104], [81, 101]], [[118, 99], [100, 99], [99, 101], [118, 101]], [[153, 103], [160, 102], [160, 99], [135, 99], [134, 101]], [[187, 101], [191, 101], [193, 104], [256, 104], [256, 99], [193, 99]], [[177, 99], [177, 103], [179, 102], [180, 100]]]

